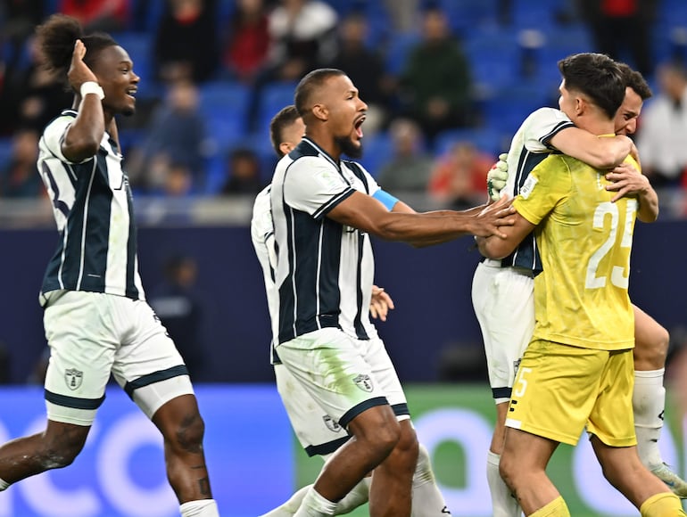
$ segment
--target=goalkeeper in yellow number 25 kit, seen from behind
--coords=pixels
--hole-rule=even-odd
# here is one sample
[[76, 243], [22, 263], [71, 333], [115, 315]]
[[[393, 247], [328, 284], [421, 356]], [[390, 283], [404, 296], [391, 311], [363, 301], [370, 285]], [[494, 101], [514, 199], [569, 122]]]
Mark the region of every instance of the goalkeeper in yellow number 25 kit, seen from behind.
[[[561, 111], [610, 135], [625, 78], [602, 54], [559, 62]], [[638, 165], [636, 166], [638, 167]], [[559, 443], [586, 426], [607, 480], [643, 516], [684, 515], [680, 500], [639, 459], [633, 429], [633, 308], [627, 294], [637, 197], [619, 197], [606, 171], [551, 154], [522, 185], [505, 240], [477, 239], [502, 259], [535, 232], [543, 271], [534, 279], [536, 324], [517, 367], [501, 475], [526, 515], [569, 515], [546, 475]], [[615, 201], [613, 201], [615, 199]]]

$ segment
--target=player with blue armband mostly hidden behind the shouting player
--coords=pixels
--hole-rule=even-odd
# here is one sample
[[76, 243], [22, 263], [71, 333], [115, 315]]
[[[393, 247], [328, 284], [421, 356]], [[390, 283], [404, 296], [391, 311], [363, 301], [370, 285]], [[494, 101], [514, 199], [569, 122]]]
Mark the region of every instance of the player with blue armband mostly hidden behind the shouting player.
[[[293, 105], [286, 106], [286, 108], [279, 111], [269, 125], [270, 139], [280, 158], [294, 150], [295, 146], [301, 141], [304, 132], [305, 126], [301, 116]], [[357, 167], [357, 165], [354, 166], [353, 164], [351, 166]], [[277, 258], [274, 250], [274, 227], [269, 207], [269, 188], [269, 186], [266, 187], [255, 199], [251, 221], [251, 237], [255, 253], [261, 263], [265, 291], [268, 298], [270, 321], [272, 322], [273, 332], [276, 332], [278, 292], [273, 275]], [[377, 190], [373, 195], [389, 209], [413, 211], [403, 202], [393, 198], [393, 196], [381, 189]], [[393, 301], [389, 295], [383, 289], [373, 285], [369, 308], [370, 314], [384, 321], [390, 308], [393, 308]], [[360, 317], [366, 332], [370, 336], [370, 345], [375, 347], [383, 346], [377, 336], [374, 325], [369, 322], [368, 313], [364, 312]], [[277, 379], [277, 390], [302, 447], [308, 455], [321, 455], [327, 461], [327, 458], [350, 439], [350, 436], [340, 425], [323, 413], [317, 402], [310, 397], [301, 383], [294, 379], [294, 376], [288, 372], [286, 366], [281, 364], [274, 348], [271, 349], [271, 361], [274, 365], [274, 373]], [[399, 392], [401, 391], [400, 386], [395, 386], [394, 389]], [[401, 409], [401, 414], [405, 414], [406, 407], [404, 402], [398, 406], [393, 406], [393, 408], [394, 410]], [[349, 513], [352, 509], [365, 504], [368, 501], [369, 481], [370, 478], [366, 477], [349, 494], [343, 497], [336, 505], [335, 514]], [[262, 517], [294, 515], [309, 488], [301, 488], [286, 503], [265, 513]], [[429, 454], [425, 447], [419, 445], [418, 465], [412, 482], [412, 515], [414, 517], [441, 517], [447, 514], [450, 514], [450, 512], [439, 488], [436, 486]]]

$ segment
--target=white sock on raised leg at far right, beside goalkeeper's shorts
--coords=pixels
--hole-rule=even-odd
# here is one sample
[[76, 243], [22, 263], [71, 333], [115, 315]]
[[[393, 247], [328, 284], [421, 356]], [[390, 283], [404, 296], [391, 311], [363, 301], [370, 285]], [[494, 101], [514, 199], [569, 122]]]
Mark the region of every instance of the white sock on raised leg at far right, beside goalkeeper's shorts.
[[637, 453], [641, 463], [652, 469], [663, 463], [658, 439], [666, 409], [666, 389], [663, 387], [665, 368], [634, 372], [633, 411], [637, 433]]

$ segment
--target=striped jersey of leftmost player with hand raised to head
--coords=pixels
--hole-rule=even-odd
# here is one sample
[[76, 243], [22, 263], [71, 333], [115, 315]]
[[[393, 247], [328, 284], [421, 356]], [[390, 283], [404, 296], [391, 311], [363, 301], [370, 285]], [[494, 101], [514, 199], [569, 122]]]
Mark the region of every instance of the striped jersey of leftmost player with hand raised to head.
[[62, 111], [38, 144], [38, 172], [53, 202], [60, 232], [41, 291], [95, 291], [145, 300], [122, 156], [105, 133], [94, 157], [81, 163], [67, 160], [62, 141], [76, 116], [76, 111]]

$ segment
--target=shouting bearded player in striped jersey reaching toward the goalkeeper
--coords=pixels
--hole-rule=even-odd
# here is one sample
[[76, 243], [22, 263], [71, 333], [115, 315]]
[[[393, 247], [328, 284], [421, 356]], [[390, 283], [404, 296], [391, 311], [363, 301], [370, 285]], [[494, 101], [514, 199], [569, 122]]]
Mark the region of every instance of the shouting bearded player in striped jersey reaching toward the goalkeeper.
[[501, 237], [511, 207], [501, 200], [464, 212], [389, 211], [370, 195], [378, 188], [372, 176], [341, 160], [343, 153], [360, 156], [367, 110], [351, 79], [341, 70], [313, 70], [296, 87], [295, 106], [305, 136], [277, 163], [270, 191], [275, 347], [289, 373], [354, 437], [329, 459], [296, 517], [331, 515], [372, 470], [370, 514], [408, 516], [418, 440], [407, 411], [401, 421], [394, 414], [402, 391], [387, 389], [399, 385], [393, 365], [381, 347], [368, 346], [360, 317], [374, 275], [369, 234], [418, 246], [466, 234]]

